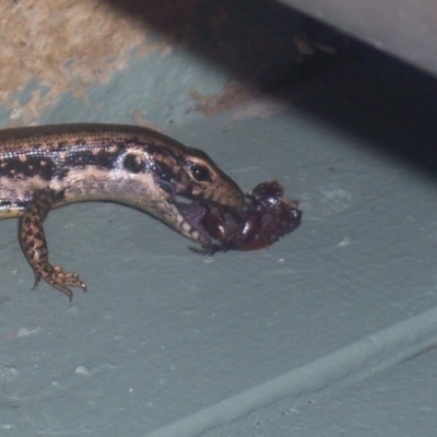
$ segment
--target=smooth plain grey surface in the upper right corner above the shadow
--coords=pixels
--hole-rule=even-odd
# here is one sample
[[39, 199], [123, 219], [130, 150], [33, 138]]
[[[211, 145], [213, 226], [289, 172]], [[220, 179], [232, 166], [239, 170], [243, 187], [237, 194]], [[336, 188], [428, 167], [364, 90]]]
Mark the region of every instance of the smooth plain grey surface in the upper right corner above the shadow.
[[436, 74], [433, 0], [282, 0], [310, 16]]

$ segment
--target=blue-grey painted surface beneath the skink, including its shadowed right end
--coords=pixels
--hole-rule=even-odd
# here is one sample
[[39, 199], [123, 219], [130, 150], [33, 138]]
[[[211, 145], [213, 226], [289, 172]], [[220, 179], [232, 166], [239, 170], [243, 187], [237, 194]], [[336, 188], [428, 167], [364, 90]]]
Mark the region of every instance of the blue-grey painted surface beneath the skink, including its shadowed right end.
[[[434, 83], [398, 68], [376, 57], [295, 87], [287, 104], [167, 130], [245, 190], [277, 178], [300, 199], [302, 227], [269, 250], [200, 257], [139, 212], [71, 205], [46, 225], [51, 260], [88, 285], [69, 304], [46, 285], [29, 291], [16, 223], [1, 223], [2, 434], [356, 435], [347, 409], [357, 415], [382, 381], [387, 398], [367, 417], [382, 424], [386, 409], [395, 423], [358, 435], [399, 436], [394, 413], [409, 403], [390, 400], [406, 383], [394, 390], [380, 374], [334, 394], [436, 344], [437, 187], [434, 155], [421, 158], [435, 138]], [[433, 377], [426, 357], [395, 371], [434, 408], [420, 385]]]

